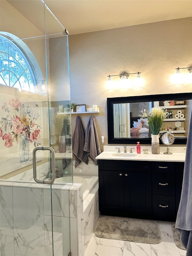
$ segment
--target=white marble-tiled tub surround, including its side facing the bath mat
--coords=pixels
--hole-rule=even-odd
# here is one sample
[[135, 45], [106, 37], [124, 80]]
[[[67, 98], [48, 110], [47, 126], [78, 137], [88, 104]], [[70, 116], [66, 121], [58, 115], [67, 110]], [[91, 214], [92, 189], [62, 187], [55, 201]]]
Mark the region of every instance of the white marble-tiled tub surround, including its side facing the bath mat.
[[[30, 175], [27, 174], [21, 175], [20, 179]], [[48, 185], [36, 183], [1, 181], [2, 256], [52, 255], [51, 198], [48, 188]], [[68, 255], [70, 241], [71, 254], [84, 255], [99, 218], [98, 184], [84, 202], [82, 198], [80, 184], [71, 187], [52, 185], [54, 256]], [[64, 236], [69, 229], [70, 237]]]

